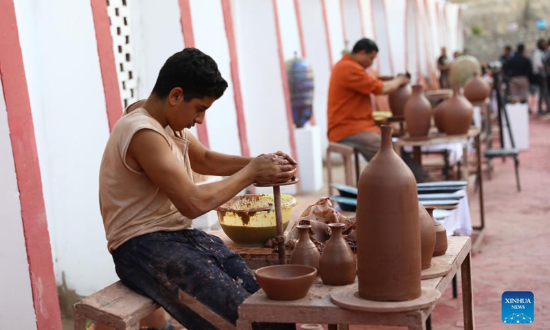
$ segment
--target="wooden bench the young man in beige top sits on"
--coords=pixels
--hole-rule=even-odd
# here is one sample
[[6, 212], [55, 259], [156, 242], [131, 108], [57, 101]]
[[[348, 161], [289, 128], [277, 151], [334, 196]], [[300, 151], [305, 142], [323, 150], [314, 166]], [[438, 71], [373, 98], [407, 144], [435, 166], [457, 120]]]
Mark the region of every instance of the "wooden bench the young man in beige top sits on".
[[160, 308], [118, 281], [80, 300], [74, 309], [74, 330], [85, 330], [89, 318], [117, 330], [127, 330]]

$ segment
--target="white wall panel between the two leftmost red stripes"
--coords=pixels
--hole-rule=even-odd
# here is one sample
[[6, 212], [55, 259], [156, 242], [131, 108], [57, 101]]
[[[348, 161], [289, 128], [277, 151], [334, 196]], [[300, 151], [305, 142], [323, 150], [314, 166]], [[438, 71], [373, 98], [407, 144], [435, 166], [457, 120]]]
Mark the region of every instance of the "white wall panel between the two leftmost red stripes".
[[56, 281], [88, 295], [117, 279], [98, 206], [109, 136], [89, 1], [14, 1]]

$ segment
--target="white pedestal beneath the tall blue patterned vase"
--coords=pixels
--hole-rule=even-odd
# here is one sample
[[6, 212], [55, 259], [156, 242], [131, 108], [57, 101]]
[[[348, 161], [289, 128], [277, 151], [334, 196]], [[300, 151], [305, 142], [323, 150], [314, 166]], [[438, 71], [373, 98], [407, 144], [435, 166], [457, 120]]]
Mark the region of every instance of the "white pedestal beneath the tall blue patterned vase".
[[322, 189], [322, 146], [318, 126], [305, 126], [294, 130], [296, 153], [300, 166], [301, 192], [316, 192]]

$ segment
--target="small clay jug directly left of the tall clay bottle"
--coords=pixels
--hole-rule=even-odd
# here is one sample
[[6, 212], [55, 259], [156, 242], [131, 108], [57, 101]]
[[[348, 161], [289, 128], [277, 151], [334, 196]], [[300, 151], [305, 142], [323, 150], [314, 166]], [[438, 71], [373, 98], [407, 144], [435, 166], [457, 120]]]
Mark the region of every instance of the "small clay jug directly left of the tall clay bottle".
[[323, 283], [348, 285], [355, 282], [357, 259], [342, 236], [344, 223], [329, 223], [331, 238], [325, 243], [319, 261], [319, 273]]

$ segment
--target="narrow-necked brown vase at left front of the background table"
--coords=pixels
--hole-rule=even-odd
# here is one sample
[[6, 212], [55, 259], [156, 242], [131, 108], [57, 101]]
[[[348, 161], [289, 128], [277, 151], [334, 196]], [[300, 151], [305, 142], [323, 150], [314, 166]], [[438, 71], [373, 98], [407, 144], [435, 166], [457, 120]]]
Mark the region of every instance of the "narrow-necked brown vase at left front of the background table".
[[411, 137], [427, 136], [432, 119], [430, 101], [422, 94], [422, 85], [412, 86], [412, 95], [405, 103], [404, 116]]

